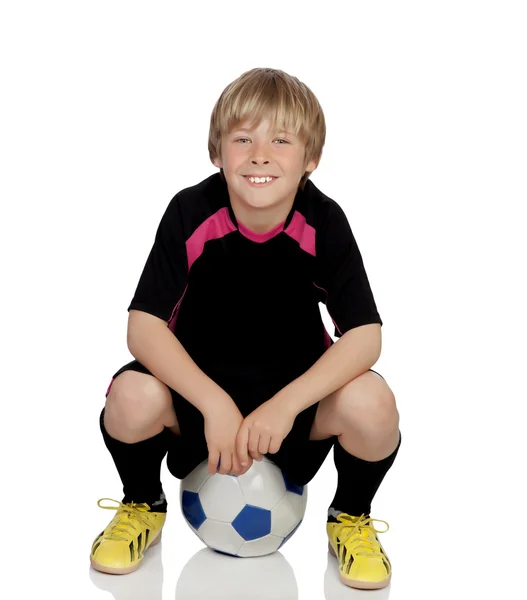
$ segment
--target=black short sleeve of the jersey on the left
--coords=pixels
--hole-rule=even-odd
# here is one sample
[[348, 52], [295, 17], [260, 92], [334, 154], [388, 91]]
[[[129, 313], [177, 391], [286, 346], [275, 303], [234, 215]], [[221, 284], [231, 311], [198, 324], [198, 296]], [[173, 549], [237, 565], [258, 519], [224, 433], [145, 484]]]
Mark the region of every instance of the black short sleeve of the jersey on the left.
[[135, 309], [169, 321], [187, 285], [188, 261], [180, 207], [175, 196], [157, 228], [128, 311]]

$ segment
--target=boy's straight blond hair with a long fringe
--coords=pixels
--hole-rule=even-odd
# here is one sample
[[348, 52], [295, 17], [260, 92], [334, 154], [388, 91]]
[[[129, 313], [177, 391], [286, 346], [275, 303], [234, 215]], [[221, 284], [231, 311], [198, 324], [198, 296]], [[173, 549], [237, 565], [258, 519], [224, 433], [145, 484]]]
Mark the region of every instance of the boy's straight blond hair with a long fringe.
[[[210, 118], [209, 156], [221, 157], [221, 140], [241, 123], [250, 121], [257, 127], [268, 118], [273, 130], [284, 127], [305, 145], [305, 164], [316, 163], [326, 141], [324, 113], [315, 94], [296, 77], [279, 69], [256, 68], [230, 83], [216, 102]], [[223, 169], [221, 169], [222, 176]], [[303, 189], [311, 175], [306, 171], [300, 180]]]

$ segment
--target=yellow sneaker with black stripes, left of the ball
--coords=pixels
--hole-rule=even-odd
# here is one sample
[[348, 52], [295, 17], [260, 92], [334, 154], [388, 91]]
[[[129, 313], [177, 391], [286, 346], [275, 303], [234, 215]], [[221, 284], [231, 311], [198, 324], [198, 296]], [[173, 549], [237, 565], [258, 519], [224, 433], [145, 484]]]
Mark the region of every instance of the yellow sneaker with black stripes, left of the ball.
[[[103, 500], [117, 502], [118, 506], [102, 506]], [[145, 550], [161, 541], [166, 513], [151, 512], [148, 504], [123, 504], [112, 498], [101, 498], [97, 504], [100, 508], [116, 510], [117, 514], [92, 544], [92, 567], [114, 575], [135, 571]]]

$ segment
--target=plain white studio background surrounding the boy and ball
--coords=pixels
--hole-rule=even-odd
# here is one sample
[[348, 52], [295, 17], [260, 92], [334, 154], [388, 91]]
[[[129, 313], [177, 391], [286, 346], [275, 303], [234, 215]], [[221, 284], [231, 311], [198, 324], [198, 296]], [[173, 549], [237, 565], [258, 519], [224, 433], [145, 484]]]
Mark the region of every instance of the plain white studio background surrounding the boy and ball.
[[[368, 597], [526, 596], [525, 11], [503, 0], [2, 4], [5, 597], [182, 600], [198, 581], [203, 598], [261, 597], [259, 570], [236, 596], [246, 561], [210, 571], [204, 559], [191, 582], [202, 545], [165, 466], [161, 546], [134, 575], [89, 568], [114, 514], [96, 502], [122, 497], [98, 416], [132, 359], [126, 307], [170, 199], [217, 171], [215, 101], [254, 67], [319, 98], [328, 131], [312, 180], [348, 215], [384, 321], [374, 368], [397, 398], [403, 445], [372, 511], [390, 524], [392, 584]], [[328, 559], [335, 484], [330, 455], [281, 551], [283, 589], [266, 598], [364, 596]]]

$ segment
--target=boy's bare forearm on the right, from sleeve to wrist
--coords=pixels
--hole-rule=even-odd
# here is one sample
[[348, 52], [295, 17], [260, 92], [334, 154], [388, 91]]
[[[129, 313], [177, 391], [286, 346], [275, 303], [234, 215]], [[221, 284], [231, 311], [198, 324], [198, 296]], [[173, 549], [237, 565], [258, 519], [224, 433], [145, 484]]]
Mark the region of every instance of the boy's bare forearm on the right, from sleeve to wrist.
[[273, 399], [298, 414], [368, 371], [379, 359], [381, 345], [378, 323], [351, 329]]

